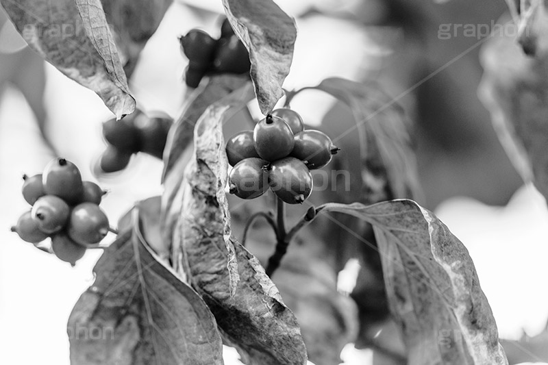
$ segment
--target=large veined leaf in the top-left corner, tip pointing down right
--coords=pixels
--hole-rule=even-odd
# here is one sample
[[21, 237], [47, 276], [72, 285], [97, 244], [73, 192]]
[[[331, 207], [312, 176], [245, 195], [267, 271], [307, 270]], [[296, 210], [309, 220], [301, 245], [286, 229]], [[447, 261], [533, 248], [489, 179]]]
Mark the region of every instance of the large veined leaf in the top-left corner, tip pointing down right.
[[[116, 118], [134, 111], [135, 100], [129, 95], [100, 8], [84, 13], [94, 17], [83, 22], [72, 0], [0, 0], [0, 3], [34, 51], [64, 75], [97, 92]], [[98, 27], [94, 31], [96, 36], [90, 39], [83, 27]]]

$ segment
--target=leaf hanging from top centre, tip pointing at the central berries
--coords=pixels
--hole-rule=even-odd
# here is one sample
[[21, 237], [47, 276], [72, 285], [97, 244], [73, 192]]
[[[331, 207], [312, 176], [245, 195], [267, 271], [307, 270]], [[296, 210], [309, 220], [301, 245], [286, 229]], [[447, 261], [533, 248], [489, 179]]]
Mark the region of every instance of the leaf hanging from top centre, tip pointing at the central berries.
[[284, 95], [297, 39], [295, 20], [272, 0], [223, 0], [225, 13], [249, 51], [251, 79], [262, 114], [269, 114]]

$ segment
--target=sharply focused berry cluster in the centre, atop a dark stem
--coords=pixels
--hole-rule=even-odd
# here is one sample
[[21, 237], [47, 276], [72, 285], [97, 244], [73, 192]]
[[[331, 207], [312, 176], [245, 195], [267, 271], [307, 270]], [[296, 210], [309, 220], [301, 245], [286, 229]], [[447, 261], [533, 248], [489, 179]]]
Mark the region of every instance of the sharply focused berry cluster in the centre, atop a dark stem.
[[274, 110], [253, 131], [240, 131], [226, 146], [229, 191], [242, 199], [260, 197], [271, 188], [288, 204], [303, 203], [312, 193], [310, 170], [327, 165], [339, 149], [314, 129], [304, 129], [290, 109]]

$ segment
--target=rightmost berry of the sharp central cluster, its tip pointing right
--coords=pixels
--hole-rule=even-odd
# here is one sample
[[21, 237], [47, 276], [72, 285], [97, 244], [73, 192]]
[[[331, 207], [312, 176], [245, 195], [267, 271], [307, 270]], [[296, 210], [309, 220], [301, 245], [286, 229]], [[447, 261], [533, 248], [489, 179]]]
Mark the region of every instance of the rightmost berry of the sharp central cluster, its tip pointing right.
[[339, 149], [331, 138], [321, 131], [309, 129], [295, 134], [295, 147], [291, 156], [306, 161], [308, 168], [322, 168], [329, 164]]

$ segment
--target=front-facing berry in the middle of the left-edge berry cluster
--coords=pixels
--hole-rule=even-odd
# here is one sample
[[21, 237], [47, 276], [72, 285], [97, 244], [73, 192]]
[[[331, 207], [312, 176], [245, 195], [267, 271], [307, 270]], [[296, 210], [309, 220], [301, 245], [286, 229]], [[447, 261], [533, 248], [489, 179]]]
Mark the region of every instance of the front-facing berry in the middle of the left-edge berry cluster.
[[34, 203], [31, 213], [40, 231], [53, 234], [64, 228], [66, 221], [69, 220], [71, 208], [60, 197], [45, 195]]

